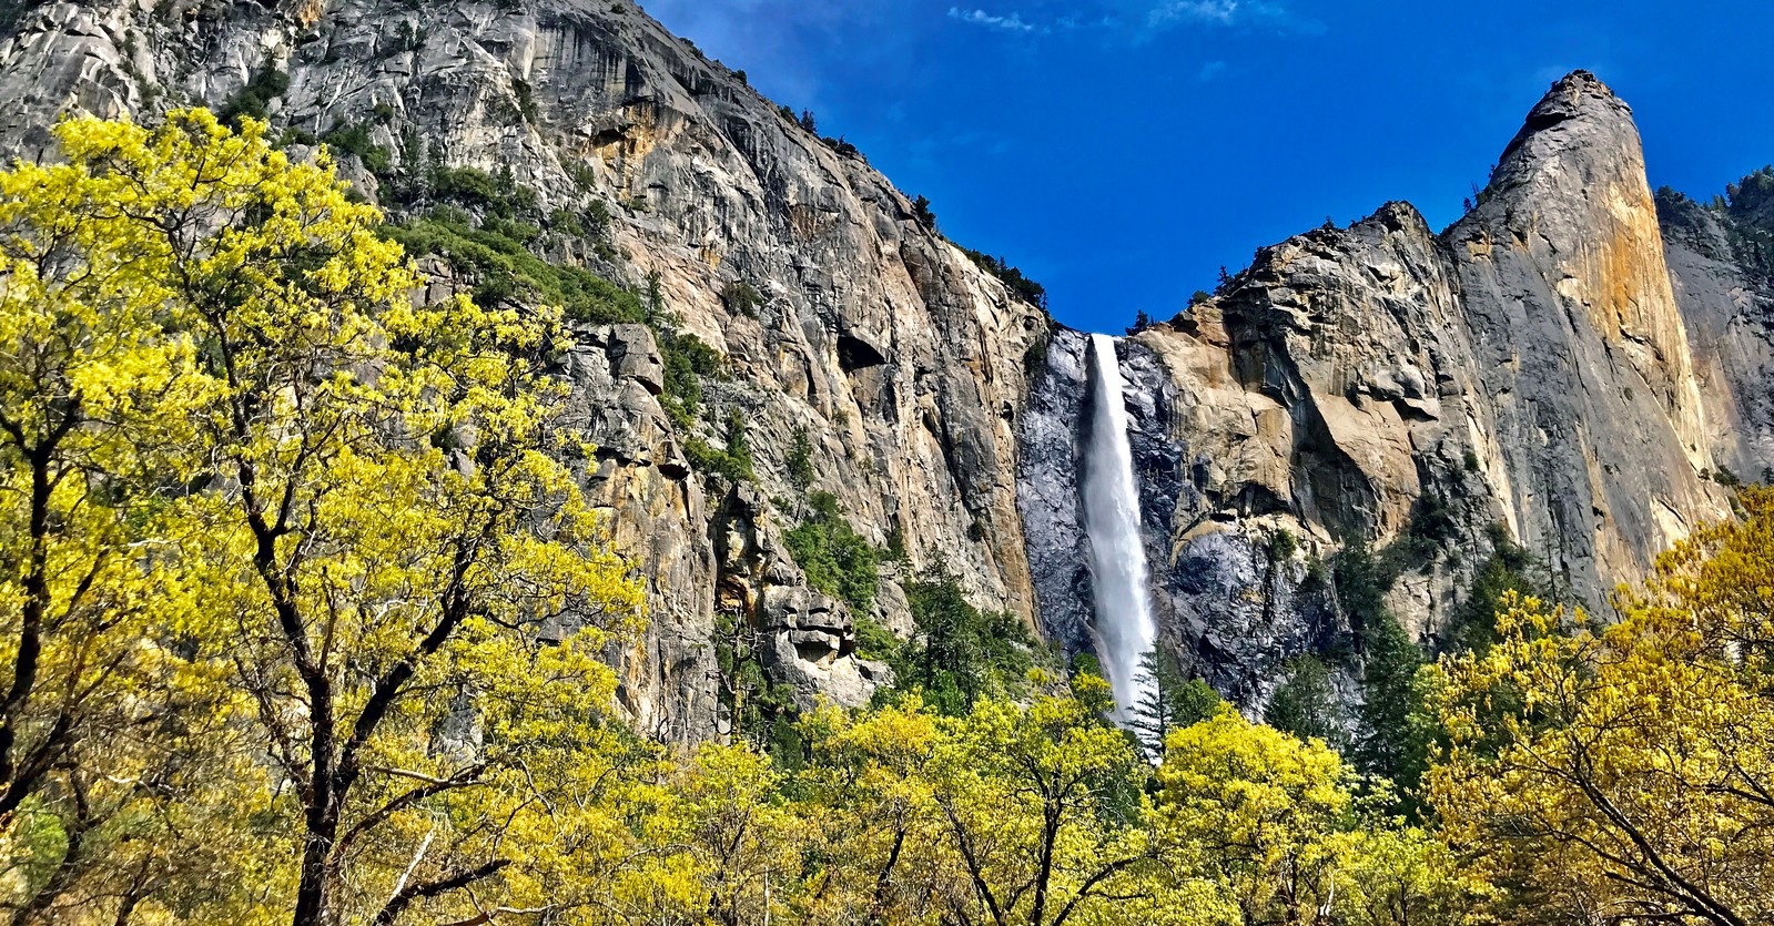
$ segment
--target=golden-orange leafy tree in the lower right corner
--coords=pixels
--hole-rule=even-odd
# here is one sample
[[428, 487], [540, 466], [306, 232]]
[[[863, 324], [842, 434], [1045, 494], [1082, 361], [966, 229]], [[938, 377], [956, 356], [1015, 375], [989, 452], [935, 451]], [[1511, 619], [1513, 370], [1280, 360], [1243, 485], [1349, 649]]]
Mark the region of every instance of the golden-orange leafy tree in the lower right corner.
[[1430, 797], [1520, 919], [1774, 917], [1774, 491], [1742, 509], [1613, 626], [1510, 598], [1490, 651], [1442, 663]]

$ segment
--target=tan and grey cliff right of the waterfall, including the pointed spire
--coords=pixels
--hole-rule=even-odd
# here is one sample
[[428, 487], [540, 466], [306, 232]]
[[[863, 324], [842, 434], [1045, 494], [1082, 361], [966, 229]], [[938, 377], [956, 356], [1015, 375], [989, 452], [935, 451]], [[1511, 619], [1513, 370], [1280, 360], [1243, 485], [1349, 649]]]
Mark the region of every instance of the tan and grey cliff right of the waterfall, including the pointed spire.
[[[1442, 234], [1387, 204], [1258, 252], [1125, 342], [1153, 596], [1183, 663], [1254, 704], [1281, 662], [1346, 647], [1315, 562], [1355, 539], [1412, 539], [1391, 605], [1426, 642], [1492, 525], [1563, 598], [1605, 607], [1726, 516], [1719, 474], [1774, 463], [1774, 176], [1758, 177], [1730, 208], [1666, 193], [1659, 222], [1630, 110], [1579, 71]], [[1063, 408], [1075, 367], [1050, 351], [1031, 408]], [[1025, 525], [1061, 534], [1031, 545], [1043, 575], [1077, 527], [1050, 514], [1063, 447], [1045, 420], [1024, 429]], [[1071, 585], [1036, 589], [1048, 632], [1080, 647]]]

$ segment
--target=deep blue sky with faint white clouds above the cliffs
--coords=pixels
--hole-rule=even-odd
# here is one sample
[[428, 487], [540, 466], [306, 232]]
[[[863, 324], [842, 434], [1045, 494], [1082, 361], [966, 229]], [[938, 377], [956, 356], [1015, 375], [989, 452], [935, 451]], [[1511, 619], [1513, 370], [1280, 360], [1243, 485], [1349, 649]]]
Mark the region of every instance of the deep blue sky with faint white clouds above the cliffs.
[[1774, 161], [1767, 0], [642, 0], [818, 114], [1054, 314], [1169, 318], [1224, 264], [1389, 199], [1440, 229], [1547, 85], [1588, 67], [1653, 186]]

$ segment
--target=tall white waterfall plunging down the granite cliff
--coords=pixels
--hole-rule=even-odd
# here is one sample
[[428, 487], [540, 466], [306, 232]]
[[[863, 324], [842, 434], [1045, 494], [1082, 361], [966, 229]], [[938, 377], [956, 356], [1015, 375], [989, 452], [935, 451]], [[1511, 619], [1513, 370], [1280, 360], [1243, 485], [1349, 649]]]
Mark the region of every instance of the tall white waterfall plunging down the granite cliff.
[[1139, 488], [1126, 440], [1121, 362], [1114, 337], [1091, 335], [1091, 433], [1084, 456], [1084, 532], [1096, 589], [1096, 655], [1114, 690], [1116, 722], [1126, 726], [1153, 687], [1141, 671], [1157, 640], [1146, 545], [1139, 527]]

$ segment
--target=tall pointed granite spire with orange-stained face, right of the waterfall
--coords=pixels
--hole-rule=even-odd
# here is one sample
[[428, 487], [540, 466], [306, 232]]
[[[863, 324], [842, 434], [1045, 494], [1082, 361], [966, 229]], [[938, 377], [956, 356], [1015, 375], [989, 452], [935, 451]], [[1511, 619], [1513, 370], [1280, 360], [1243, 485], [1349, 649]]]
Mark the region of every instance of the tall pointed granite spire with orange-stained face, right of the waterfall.
[[1554, 83], [1448, 245], [1519, 534], [1598, 603], [1717, 509], [1632, 108], [1588, 71]]

